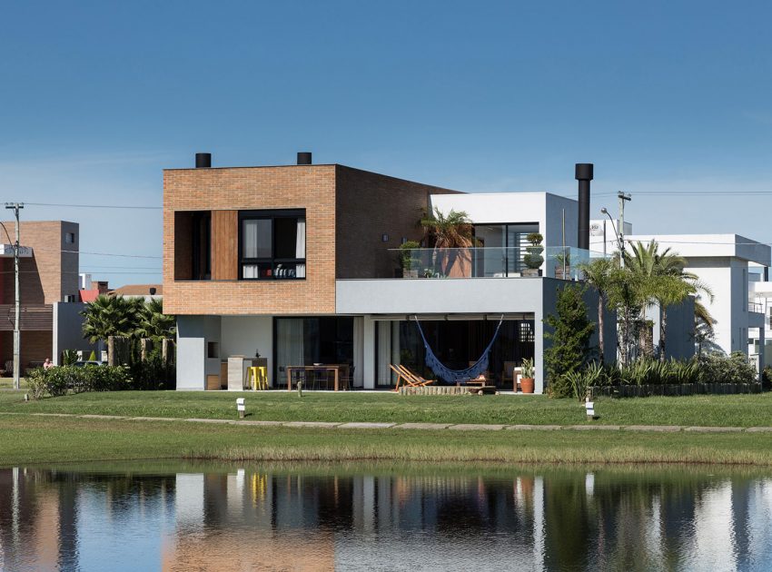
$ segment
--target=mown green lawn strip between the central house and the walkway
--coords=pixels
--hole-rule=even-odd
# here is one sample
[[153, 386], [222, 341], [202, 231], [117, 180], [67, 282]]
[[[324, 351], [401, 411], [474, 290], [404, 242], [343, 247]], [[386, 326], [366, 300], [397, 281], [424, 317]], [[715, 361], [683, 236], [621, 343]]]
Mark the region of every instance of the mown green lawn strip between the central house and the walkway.
[[[23, 391], [0, 391], [0, 411], [235, 419], [245, 397], [248, 419], [441, 423], [586, 423], [582, 404], [544, 396], [401, 396], [383, 393], [121, 391], [82, 393], [25, 403]], [[612, 425], [772, 426], [772, 393], [598, 399], [595, 423]]]

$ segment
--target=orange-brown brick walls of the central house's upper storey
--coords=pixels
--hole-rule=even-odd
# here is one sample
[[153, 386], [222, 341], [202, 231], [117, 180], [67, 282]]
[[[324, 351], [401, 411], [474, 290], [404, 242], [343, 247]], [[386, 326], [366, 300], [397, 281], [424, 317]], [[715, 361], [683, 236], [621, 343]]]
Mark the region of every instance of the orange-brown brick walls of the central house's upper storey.
[[[402, 237], [420, 238], [429, 194], [441, 192], [453, 191], [341, 165], [164, 171], [163, 309], [177, 315], [334, 314], [336, 277], [392, 271], [394, 257], [386, 249], [398, 247]], [[228, 249], [238, 248], [238, 229], [231, 228], [236, 212], [271, 209], [305, 210], [305, 280], [223, 280], [235, 276], [236, 254]], [[212, 270], [220, 280], [179, 280], [191, 276], [187, 237], [195, 211], [213, 212]]]

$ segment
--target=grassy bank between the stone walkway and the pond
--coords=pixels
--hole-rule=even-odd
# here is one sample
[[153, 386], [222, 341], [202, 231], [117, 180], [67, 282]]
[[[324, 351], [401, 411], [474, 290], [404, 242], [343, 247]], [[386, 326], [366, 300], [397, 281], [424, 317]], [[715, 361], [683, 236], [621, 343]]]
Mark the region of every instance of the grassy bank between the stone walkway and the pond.
[[719, 463], [772, 467], [758, 434], [238, 427], [0, 416], [0, 466], [131, 459], [462, 463]]

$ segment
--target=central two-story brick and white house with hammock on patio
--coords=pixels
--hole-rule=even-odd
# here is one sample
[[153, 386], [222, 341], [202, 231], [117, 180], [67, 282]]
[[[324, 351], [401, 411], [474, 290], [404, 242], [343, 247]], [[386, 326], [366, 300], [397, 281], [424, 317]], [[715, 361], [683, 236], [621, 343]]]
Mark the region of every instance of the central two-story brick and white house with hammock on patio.
[[[480, 358], [501, 323], [490, 378], [511, 390], [512, 365], [533, 357], [544, 389], [542, 320], [589, 256], [576, 248], [577, 201], [468, 194], [298, 159], [212, 168], [199, 153], [196, 168], [164, 171], [163, 306], [177, 316], [178, 390], [203, 390], [223, 360], [257, 353], [276, 388], [286, 368], [315, 363], [349, 364], [365, 389], [392, 386], [393, 364], [431, 375], [416, 321], [456, 370]], [[423, 240], [419, 221], [435, 208], [467, 212], [475, 243], [410, 251], [407, 271], [398, 249]], [[538, 270], [525, 264], [531, 232], [545, 237]]]

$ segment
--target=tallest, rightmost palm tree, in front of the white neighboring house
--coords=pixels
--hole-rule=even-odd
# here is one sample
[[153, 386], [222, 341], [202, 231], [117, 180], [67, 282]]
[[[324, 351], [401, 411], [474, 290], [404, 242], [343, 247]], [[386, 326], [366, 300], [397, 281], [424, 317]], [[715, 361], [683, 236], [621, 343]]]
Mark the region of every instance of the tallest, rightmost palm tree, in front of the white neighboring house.
[[662, 312], [659, 321], [659, 360], [665, 361], [665, 346], [668, 328], [668, 306], [678, 305], [688, 296], [695, 296], [695, 320], [711, 324], [712, 317], [708, 309], [698, 301], [700, 294], [713, 301], [713, 292], [708, 285], [699, 280], [697, 274], [684, 270], [686, 259], [669, 248], [659, 251], [657, 241], [647, 245], [636, 242], [632, 245], [632, 254], [625, 252], [625, 263], [630, 271], [643, 277], [644, 293], [648, 304], [656, 303]]

